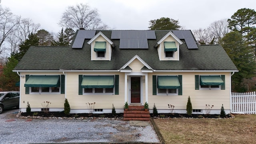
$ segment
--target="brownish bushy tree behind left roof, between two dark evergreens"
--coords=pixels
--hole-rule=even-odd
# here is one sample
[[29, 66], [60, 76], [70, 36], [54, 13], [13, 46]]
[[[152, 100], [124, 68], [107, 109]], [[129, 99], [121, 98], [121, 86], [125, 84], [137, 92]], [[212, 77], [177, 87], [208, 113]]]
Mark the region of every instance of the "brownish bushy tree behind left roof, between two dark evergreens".
[[39, 46], [50, 46], [53, 42], [53, 36], [46, 30], [38, 30], [36, 36], [39, 38]]

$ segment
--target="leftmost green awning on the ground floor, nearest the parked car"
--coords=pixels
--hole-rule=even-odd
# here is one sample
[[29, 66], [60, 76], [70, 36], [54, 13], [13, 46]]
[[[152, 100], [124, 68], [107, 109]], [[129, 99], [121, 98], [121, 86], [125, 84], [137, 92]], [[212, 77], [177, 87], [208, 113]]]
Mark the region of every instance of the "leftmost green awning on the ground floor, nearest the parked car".
[[30, 76], [25, 87], [60, 87], [60, 76]]

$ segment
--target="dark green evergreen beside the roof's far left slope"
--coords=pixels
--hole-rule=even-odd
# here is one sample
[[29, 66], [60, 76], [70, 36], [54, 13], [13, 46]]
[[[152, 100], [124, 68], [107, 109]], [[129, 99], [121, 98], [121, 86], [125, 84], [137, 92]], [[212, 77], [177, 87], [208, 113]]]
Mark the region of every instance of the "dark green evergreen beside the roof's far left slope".
[[39, 38], [36, 36], [36, 34], [29, 34], [28, 39], [25, 40], [25, 42], [22, 42], [19, 47], [19, 51], [13, 52], [12, 55], [14, 55], [14, 58], [16, 60], [20, 61], [21, 58], [24, 56], [24, 54], [27, 52], [28, 48], [30, 46], [38, 46], [39, 45]]

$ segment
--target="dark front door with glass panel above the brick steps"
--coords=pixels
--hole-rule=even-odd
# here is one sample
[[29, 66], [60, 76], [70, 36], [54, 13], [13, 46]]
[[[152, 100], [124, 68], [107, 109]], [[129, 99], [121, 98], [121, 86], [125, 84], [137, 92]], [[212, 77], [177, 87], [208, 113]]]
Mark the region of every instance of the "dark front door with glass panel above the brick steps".
[[130, 77], [130, 102], [141, 103], [141, 77]]

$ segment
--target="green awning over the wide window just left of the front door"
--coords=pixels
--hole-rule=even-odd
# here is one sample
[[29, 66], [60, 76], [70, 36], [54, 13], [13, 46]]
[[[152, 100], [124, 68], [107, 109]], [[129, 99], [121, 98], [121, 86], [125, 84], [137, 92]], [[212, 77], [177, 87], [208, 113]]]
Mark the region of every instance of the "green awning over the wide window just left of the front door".
[[84, 76], [82, 88], [114, 88], [114, 76]]

